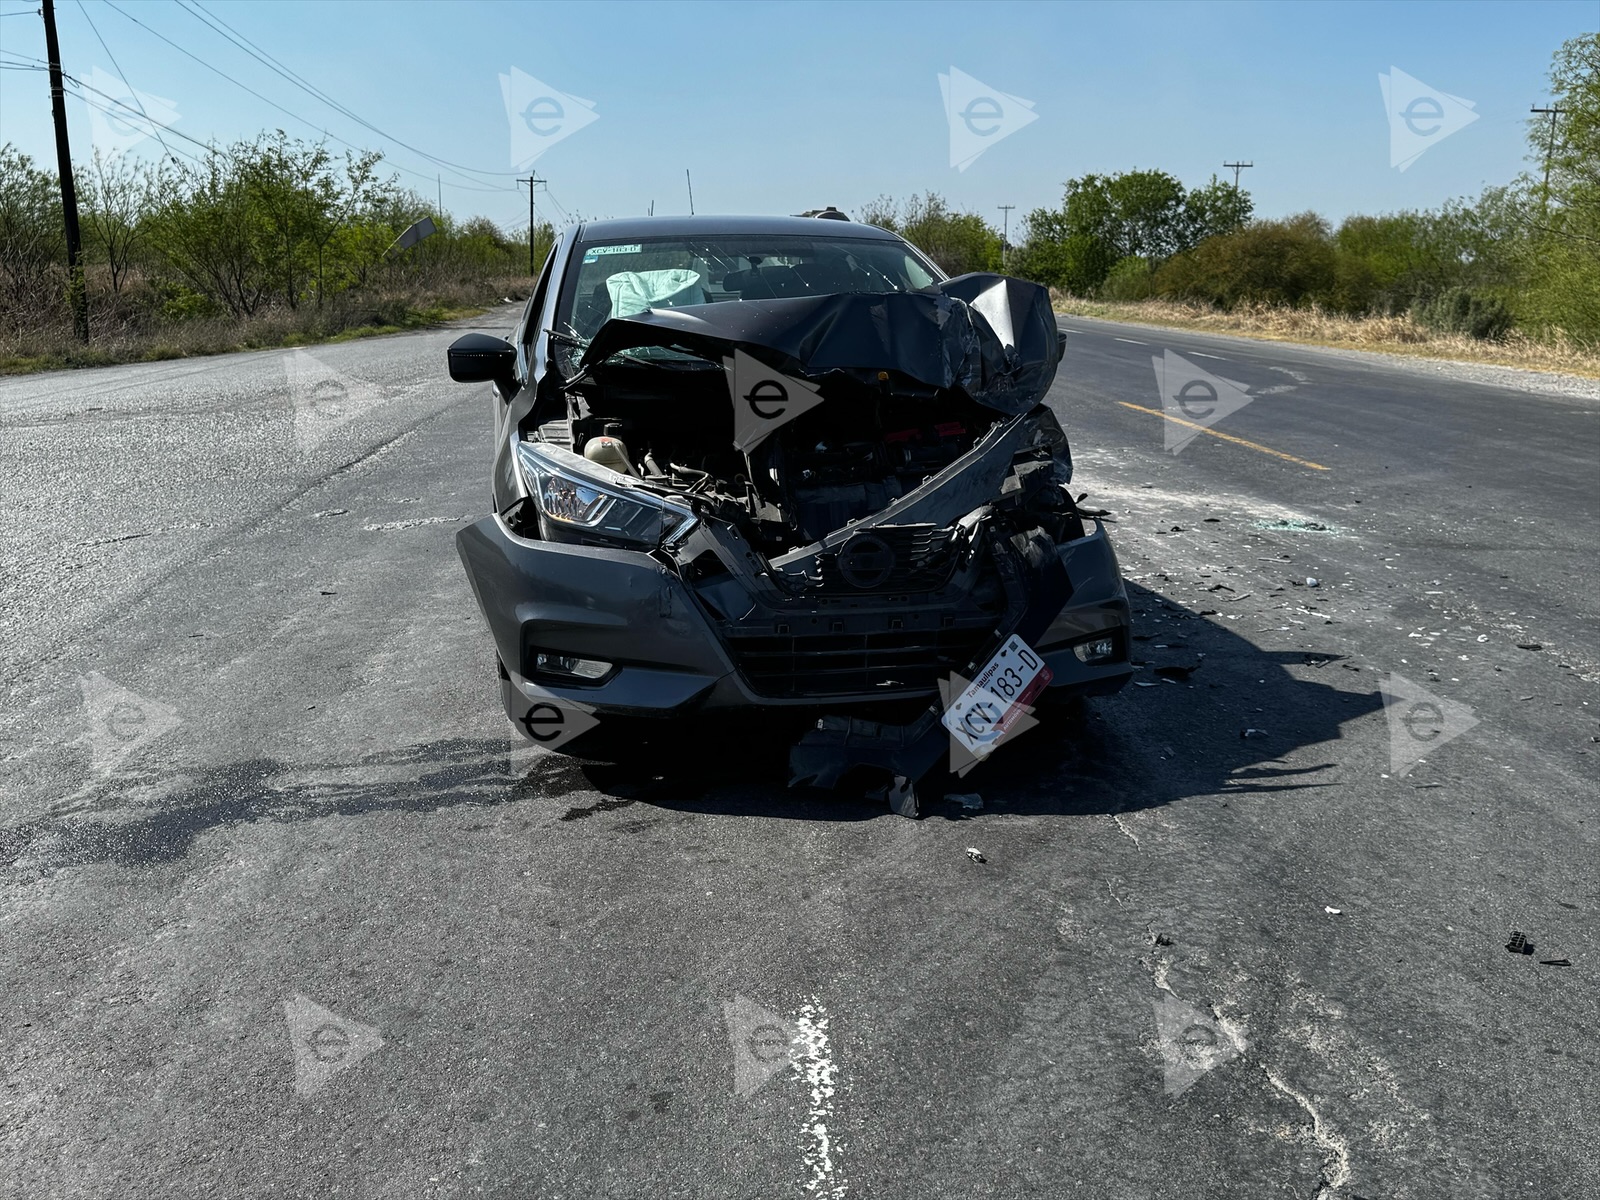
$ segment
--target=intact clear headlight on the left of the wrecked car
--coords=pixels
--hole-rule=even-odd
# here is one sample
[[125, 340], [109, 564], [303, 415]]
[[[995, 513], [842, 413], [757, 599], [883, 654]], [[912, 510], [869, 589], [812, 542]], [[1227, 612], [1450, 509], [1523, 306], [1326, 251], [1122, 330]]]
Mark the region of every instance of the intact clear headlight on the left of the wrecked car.
[[640, 488], [627, 475], [563, 446], [517, 443], [517, 464], [550, 541], [597, 541], [654, 549], [696, 523], [688, 504]]

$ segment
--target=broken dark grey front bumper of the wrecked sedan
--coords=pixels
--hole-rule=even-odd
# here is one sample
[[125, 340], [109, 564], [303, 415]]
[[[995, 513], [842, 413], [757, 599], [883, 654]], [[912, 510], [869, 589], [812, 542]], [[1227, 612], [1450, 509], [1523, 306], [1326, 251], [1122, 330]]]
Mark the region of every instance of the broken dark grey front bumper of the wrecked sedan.
[[[963, 670], [998, 622], [971, 605], [917, 595], [779, 608], [755, 587], [730, 594], [728, 581], [712, 608], [648, 554], [531, 541], [498, 515], [464, 528], [456, 547], [494, 638], [506, 712], [518, 723], [550, 698], [597, 714], [680, 717], [936, 696], [936, 677]], [[1035, 637], [1035, 650], [1054, 690], [1117, 691], [1133, 669], [1115, 554], [1098, 523], [1056, 549], [1070, 597]], [[1078, 661], [1072, 646], [1096, 637], [1114, 640], [1114, 661]], [[541, 651], [616, 669], [597, 683], [573, 683], [538, 672]]]

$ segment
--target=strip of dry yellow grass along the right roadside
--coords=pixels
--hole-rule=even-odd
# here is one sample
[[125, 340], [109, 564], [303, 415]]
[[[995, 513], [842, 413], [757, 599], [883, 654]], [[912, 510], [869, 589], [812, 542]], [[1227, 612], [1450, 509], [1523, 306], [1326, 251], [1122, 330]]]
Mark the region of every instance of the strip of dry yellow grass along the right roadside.
[[1069, 317], [1099, 317], [1136, 325], [1165, 325], [1174, 330], [1234, 333], [1264, 341], [1331, 346], [1342, 350], [1379, 350], [1416, 358], [1450, 358], [1496, 366], [1523, 366], [1533, 371], [1562, 371], [1600, 379], [1600, 354], [1574, 346], [1565, 338], [1534, 341], [1512, 333], [1488, 342], [1466, 334], [1435, 333], [1410, 317], [1339, 317], [1322, 309], [1240, 307], [1222, 312], [1205, 304], [1174, 301], [1109, 302], [1085, 301], [1051, 290], [1056, 312]]

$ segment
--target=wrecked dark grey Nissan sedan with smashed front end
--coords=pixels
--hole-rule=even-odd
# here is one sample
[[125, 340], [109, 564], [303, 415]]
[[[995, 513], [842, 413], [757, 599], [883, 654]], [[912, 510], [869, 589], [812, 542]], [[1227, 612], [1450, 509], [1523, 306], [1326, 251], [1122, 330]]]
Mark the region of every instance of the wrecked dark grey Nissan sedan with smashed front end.
[[494, 512], [458, 549], [533, 741], [805, 710], [794, 782], [866, 771], [915, 811], [946, 754], [1131, 674], [1045, 403], [1048, 293], [829, 216], [574, 226], [512, 341], [451, 346], [496, 413]]

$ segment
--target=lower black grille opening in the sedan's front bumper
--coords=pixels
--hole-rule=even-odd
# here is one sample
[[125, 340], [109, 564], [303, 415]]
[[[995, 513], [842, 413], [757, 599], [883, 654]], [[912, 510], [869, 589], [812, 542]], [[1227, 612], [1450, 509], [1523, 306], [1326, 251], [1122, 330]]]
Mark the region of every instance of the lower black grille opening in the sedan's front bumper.
[[992, 629], [870, 634], [730, 634], [728, 650], [750, 690], [773, 699], [930, 691], [962, 670]]

